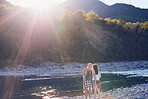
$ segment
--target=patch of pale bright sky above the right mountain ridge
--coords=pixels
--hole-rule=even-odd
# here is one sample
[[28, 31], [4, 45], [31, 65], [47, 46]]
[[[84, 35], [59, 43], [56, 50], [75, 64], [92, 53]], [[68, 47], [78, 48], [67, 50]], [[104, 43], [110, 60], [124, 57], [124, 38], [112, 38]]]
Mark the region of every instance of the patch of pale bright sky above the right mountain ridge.
[[135, 7], [148, 8], [148, 0], [100, 0], [107, 5], [113, 5], [115, 3], [131, 4]]

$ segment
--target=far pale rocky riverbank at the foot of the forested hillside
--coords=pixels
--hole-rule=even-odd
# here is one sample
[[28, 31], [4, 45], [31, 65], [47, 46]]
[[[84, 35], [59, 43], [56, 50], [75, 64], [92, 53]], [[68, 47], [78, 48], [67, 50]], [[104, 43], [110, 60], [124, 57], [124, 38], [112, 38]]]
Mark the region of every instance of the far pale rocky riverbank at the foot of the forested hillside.
[[[111, 62], [96, 63], [101, 73], [122, 73], [122, 74], [148, 74], [148, 61], [132, 61], [132, 62]], [[32, 67], [26, 65], [18, 65], [17, 67], [4, 67], [0, 69], [1, 76], [65, 76], [65, 75], [81, 75], [83, 68], [87, 64], [67, 63], [61, 65], [59, 63], [44, 62], [39, 66]], [[143, 72], [144, 71], [144, 72]]]

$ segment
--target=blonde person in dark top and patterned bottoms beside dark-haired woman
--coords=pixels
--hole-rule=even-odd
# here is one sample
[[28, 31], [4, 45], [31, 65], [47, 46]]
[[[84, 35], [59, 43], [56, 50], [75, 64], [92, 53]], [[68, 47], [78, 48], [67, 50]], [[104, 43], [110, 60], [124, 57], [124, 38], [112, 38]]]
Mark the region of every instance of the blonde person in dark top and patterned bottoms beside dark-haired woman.
[[95, 76], [95, 74], [92, 73], [92, 64], [91, 63], [89, 63], [87, 65], [87, 68], [83, 69], [82, 75], [83, 75], [83, 92], [85, 93], [85, 98], [87, 99], [87, 92], [89, 92], [89, 98], [91, 98], [92, 75]]

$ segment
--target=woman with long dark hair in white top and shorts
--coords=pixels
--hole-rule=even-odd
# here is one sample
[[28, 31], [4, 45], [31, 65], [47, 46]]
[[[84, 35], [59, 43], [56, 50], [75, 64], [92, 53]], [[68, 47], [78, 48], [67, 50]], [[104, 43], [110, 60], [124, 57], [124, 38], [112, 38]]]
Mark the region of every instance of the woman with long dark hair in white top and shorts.
[[98, 98], [100, 99], [100, 89], [101, 89], [101, 74], [99, 72], [97, 64], [93, 65], [93, 72], [95, 73], [95, 76], [93, 76], [93, 87], [94, 87], [94, 97], [96, 99], [96, 89], [98, 91]]

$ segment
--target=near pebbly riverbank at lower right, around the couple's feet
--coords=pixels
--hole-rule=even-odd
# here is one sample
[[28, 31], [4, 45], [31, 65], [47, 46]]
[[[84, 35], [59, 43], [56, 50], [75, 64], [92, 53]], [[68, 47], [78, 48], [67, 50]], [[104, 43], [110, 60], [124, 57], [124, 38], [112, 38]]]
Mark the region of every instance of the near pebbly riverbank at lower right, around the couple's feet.
[[[92, 99], [94, 96], [92, 96]], [[63, 99], [85, 99], [84, 96], [64, 97]], [[148, 99], [148, 83], [133, 85], [130, 88], [115, 88], [101, 92], [101, 99]]]

